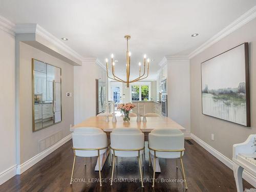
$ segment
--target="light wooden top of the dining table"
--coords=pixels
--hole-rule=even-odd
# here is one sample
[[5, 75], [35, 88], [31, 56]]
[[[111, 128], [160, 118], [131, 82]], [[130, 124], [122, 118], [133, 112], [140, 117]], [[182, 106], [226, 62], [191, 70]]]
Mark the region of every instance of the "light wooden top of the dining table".
[[186, 129], [175, 122], [174, 120], [168, 117], [146, 117], [147, 122], [136, 122], [137, 117], [131, 117], [130, 122], [124, 123], [122, 117], [116, 117], [117, 122], [112, 122], [112, 117], [109, 117], [110, 122], [106, 122], [106, 118], [99, 117], [90, 117], [83, 122], [76, 124], [75, 126], [70, 128], [70, 131], [74, 131], [76, 127], [98, 127], [102, 129], [104, 132], [112, 132], [115, 128], [120, 127], [137, 127], [142, 132], [151, 132], [154, 129], [159, 128], [174, 128], [179, 129], [181, 131], [185, 131]]

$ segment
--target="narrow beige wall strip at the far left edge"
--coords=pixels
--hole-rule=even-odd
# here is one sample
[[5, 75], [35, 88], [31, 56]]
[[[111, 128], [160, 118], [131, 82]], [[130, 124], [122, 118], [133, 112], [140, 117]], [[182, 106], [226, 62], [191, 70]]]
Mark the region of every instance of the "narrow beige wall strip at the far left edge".
[[[16, 164], [15, 37], [0, 30], [0, 173]], [[0, 183], [1, 184], [1, 183]]]

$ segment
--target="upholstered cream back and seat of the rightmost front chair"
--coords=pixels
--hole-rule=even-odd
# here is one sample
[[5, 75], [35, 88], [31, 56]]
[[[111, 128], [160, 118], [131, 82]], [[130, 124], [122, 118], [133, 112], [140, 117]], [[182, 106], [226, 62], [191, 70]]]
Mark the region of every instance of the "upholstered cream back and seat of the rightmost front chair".
[[[155, 129], [148, 134], [148, 146], [158, 150], [181, 150], [184, 148], [184, 134], [177, 129]], [[154, 151], [150, 151], [154, 155]], [[183, 155], [183, 153], [182, 153]], [[160, 158], [179, 158], [180, 152], [156, 152]]]

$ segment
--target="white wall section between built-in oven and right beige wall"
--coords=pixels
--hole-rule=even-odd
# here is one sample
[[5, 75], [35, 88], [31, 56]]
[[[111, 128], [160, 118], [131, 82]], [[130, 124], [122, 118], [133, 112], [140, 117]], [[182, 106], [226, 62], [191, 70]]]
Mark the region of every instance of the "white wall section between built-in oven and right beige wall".
[[168, 117], [190, 132], [189, 60], [167, 59]]

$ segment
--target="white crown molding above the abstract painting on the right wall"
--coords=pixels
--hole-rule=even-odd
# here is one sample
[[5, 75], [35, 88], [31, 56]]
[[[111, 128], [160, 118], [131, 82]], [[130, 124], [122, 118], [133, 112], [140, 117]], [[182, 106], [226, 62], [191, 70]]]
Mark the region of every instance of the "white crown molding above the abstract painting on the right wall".
[[216, 35], [211, 37], [209, 40], [207, 40], [203, 45], [201, 45], [196, 50], [191, 52], [188, 55], [188, 58], [190, 59], [190, 58], [195, 57], [196, 55], [203, 52], [205, 49], [209, 48], [210, 46], [214, 45], [216, 42], [223, 39], [230, 33], [238, 30], [239, 28], [241, 28], [242, 26], [244, 26], [245, 24], [247, 24], [248, 22], [250, 22], [250, 20], [252, 20], [254, 18], [256, 18], [256, 6], [252, 7], [250, 10], [245, 12], [238, 19], [234, 20], [234, 22], [229, 24], [227, 27], [225, 27], [219, 33], [217, 33]]

